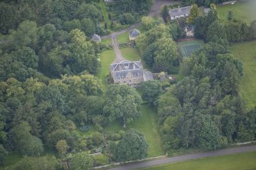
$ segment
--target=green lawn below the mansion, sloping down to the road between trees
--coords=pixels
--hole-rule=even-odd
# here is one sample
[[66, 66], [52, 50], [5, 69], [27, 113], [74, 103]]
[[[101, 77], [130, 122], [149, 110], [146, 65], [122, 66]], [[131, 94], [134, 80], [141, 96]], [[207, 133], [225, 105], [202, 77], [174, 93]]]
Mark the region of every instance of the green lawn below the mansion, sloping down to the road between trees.
[[[134, 128], [143, 133], [146, 137], [148, 149], [148, 157], [164, 155], [160, 140], [160, 133], [157, 125], [157, 113], [154, 108], [145, 104], [141, 106], [141, 117], [128, 123], [127, 129]], [[118, 132], [122, 130], [122, 120], [112, 123], [105, 128], [105, 132]]]

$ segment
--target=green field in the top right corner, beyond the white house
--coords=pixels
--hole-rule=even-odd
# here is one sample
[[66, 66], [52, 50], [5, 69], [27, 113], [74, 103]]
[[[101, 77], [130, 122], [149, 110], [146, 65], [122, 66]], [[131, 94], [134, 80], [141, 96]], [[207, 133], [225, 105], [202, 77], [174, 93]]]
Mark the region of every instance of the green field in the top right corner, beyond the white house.
[[256, 1], [236, 2], [234, 5], [219, 5], [217, 12], [222, 22], [228, 21], [228, 11], [233, 12], [233, 18], [246, 21], [248, 24], [256, 19]]

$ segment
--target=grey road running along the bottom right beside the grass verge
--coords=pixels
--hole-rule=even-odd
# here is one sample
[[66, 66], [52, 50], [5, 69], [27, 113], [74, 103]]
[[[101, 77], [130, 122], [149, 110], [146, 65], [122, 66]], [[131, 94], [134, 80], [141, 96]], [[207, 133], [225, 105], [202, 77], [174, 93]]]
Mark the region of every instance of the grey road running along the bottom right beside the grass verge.
[[158, 160], [148, 161], [148, 162], [132, 163], [127, 165], [121, 165], [116, 168], [110, 168], [109, 170], [130, 170], [130, 169], [146, 168], [146, 167], [155, 166], [155, 165], [169, 164], [172, 162], [182, 162], [186, 160], [201, 159], [201, 158], [206, 158], [210, 156], [225, 156], [225, 155], [231, 155], [235, 153], [252, 152], [252, 151], [256, 151], [256, 146], [243, 146], [238, 148], [222, 149], [222, 150], [211, 151], [211, 152], [202, 152], [202, 153], [189, 154], [185, 156], [176, 156], [172, 158], [158, 159]]

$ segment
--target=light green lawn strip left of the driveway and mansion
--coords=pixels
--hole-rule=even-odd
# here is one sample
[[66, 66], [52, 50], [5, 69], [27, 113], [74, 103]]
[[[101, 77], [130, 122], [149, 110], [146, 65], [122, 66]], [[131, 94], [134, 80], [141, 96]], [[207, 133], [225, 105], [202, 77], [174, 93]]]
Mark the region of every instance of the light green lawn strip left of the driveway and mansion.
[[99, 73], [99, 79], [102, 80], [103, 91], [107, 90], [107, 84], [105, 82], [105, 75], [110, 72], [110, 64], [115, 59], [114, 50], [105, 50], [100, 54], [100, 61], [102, 63], [102, 71]]

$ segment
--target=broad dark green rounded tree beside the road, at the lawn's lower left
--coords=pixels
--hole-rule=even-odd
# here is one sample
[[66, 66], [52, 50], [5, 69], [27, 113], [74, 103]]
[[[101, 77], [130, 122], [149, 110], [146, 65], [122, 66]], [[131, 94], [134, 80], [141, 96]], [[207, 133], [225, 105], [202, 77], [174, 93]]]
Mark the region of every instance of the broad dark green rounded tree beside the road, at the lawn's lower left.
[[125, 133], [117, 146], [112, 148], [112, 155], [115, 161], [121, 162], [144, 159], [147, 156], [147, 148], [144, 135], [131, 129]]

